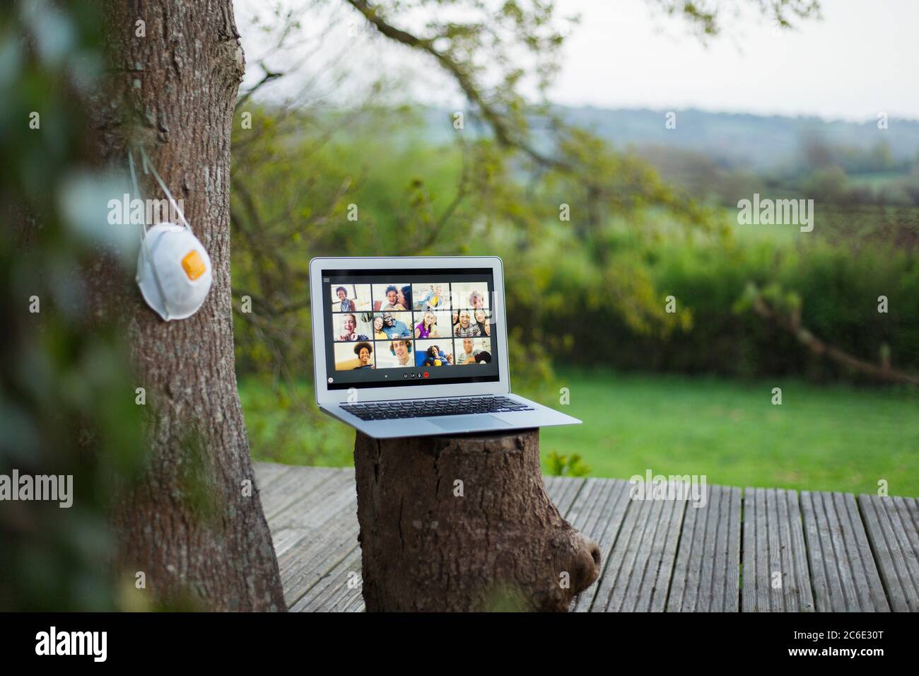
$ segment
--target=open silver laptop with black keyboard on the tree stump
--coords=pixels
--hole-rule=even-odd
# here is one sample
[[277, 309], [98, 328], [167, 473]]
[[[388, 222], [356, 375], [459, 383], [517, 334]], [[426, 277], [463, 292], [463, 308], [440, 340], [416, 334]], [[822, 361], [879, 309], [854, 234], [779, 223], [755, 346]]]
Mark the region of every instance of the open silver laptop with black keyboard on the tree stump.
[[376, 439], [581, 421], [511, 392], [501, 258], [313, 258], [316, 402]]

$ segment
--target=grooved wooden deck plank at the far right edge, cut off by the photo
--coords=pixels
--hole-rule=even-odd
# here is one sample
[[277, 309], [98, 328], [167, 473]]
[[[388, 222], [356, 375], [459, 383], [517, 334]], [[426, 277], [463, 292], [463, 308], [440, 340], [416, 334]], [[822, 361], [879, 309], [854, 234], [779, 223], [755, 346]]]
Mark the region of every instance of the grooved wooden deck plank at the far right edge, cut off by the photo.
[[858, 506], [891, 609], [919, 611], [919, 503], [863, 494]]

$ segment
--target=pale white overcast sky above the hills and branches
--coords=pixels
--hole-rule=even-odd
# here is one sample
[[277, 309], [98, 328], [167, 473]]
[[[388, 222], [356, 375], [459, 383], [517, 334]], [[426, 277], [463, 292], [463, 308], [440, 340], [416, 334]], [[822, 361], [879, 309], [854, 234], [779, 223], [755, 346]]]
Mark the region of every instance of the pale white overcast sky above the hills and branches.
[[[336, 27], [333, 44], [345, 41], [346, 24], [352, 32], [355, 23], [363, 26], [344, 5], [333, 4], [333, 13], [324, 17], [326, 25], [331, 21]], [[247, 55], [265, 45], [248, 21], [264, 6], [265, 0], [236, 0]], [[753, 13], [726, 17], [722, 35], [708, 45], [688, 34], [681, 20], [652, 11], [645, 0], [557, 0], [556, 6], [560, 17], [581, 15], [550, 90], [557, 103], [831, 120], [876, 120], [886, 112], [919, 120], [919, 0], [823, 0], [823, 19], [802, 22], [792, 31], [777, 31]], [[399, 45], [384, 43], [381, 49], [375, 37], [347, 41], [346, 63], [358, 73], [414, 68], [424, 73], [414, 83], [413, 97], [434, 104], [456, 100], [455, 87], [432, 72], [423, 57]], [[248, 82], [260, 75], [253, 71]], [[278, 87], [289, 86], [278, 81]]]

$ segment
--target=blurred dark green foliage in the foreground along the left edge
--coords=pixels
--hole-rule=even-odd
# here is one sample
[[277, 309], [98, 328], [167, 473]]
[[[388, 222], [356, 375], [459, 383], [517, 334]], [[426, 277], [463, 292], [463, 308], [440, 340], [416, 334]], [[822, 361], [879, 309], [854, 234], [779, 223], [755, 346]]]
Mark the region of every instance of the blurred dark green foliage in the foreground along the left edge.
[[0, 503], [5, 611], [128, 607], [108, 510], [114, 479], [144, 457], [142, 407], [127, 346], [88, 304], [93, 275], [119, 274], [99, 258], [105, 211], [93, 205], [106, 204], [106, 177], [86, 159], [83, 103], [102, 70], [96, 9], [0, 5], [0, 475], [73, 476], [68, 509]]

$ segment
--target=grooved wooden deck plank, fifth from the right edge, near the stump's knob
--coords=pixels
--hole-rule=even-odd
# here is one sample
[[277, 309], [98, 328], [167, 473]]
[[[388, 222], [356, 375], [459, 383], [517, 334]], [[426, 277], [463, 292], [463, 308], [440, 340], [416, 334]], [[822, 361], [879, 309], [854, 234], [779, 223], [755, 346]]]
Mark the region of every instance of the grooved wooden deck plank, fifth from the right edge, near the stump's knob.
[[686, 499], [630, 500], [591, 612], [663, 611]]

